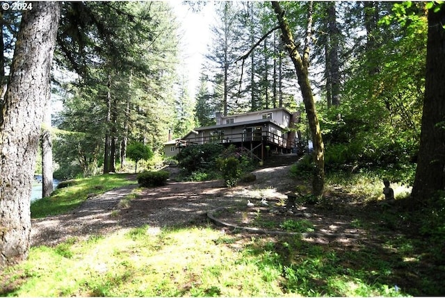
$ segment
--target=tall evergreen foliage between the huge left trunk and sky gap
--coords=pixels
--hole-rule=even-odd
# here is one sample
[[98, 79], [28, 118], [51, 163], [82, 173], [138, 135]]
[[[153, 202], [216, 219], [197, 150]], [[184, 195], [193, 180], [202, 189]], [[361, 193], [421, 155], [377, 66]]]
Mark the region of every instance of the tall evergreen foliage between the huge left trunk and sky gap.
[[177, 28], [165, 2], [63, 4], [56, 61], [80, 76], [56, 87], [64, 102], [54, 142], [59, 177], [97, 174], [106, 135], [163, 148], [177, 121], [175, 99], [183, 100], [170, 67], [178, 61]]

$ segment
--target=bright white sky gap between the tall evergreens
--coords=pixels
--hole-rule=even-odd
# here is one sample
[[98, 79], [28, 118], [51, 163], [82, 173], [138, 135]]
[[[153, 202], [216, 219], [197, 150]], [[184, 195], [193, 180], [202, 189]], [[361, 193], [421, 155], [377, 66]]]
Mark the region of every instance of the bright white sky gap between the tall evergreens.
[[188, 94], [195, 97], [199, 85], [201, 65], [211, 42], [211, 24], [215, 20], [213, 3], [209, 2], [199, 13], [194, 13], [182, 1], [169, 1], [180, 24], [181, 51], [184, 57], [185, 73], [188, 76]]

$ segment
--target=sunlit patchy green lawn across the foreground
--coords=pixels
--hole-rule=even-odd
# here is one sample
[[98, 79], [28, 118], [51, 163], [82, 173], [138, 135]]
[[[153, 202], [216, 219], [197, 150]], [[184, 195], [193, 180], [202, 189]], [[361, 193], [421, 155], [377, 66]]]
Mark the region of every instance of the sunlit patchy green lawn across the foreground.
[[385, 278], [343, 267], [339, 256], [298, 238], [225, 235], [210, 227], [143, 226], [104, 238], [33, 247], [0, 274], [0, 294], [54, 296], [403, 296]]

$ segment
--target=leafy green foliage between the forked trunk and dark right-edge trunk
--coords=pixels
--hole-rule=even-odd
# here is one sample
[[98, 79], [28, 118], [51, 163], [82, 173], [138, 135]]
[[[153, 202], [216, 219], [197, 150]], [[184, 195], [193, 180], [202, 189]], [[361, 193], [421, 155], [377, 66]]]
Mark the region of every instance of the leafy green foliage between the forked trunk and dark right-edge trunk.
[[426, 65], [423, 5], [369, 6], [392, 12], [375, 24], [366, 51], [353, 49], [341, 105], [318, 103], [327, 170], [400, 167], [416, 159]]

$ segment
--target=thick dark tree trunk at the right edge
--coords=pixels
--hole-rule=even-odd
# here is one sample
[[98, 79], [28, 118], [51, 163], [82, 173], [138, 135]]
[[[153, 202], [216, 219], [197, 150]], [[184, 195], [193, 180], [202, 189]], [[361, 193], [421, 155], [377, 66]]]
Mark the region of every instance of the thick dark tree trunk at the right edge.
[[445, 189], [445, 7], [428, 10], [426, 88], [412, 197], [431, 199]]

